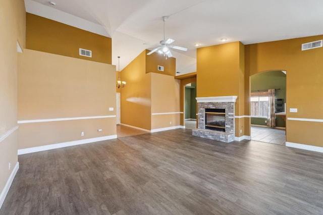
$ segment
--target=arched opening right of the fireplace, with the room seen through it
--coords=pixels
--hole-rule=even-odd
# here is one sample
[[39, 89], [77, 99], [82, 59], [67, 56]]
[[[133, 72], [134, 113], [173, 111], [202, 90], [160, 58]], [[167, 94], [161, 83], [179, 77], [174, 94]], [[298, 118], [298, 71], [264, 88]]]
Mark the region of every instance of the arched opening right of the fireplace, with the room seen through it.
[[[268, 89], [275, 89], [273, 100]], [[270, 102], [273, 106], [268, 104]], [[250, 76], [251, 140], [285, 145], [286, 102], [286, 71], [267, 71]]]

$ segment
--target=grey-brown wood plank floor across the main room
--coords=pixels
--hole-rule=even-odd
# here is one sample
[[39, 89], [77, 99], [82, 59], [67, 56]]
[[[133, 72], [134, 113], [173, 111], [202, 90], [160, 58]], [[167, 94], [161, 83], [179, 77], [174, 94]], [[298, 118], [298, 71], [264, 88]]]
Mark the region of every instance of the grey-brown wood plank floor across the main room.
[[19, 155], [0, 214], [323, 214], [323, 154], [189, 129]]

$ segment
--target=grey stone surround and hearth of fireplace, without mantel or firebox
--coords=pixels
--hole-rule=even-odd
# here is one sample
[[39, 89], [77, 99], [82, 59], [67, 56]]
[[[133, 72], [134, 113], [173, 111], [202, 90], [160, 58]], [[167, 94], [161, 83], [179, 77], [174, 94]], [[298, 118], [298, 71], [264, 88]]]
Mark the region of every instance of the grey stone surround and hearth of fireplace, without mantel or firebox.
[[[192, 135], [222, 142], [232, 142], [235, 138], [235, 102], [199, 102], [197, 129]], [[226, 132], [205, 129], [205, 109], [226, 110]]]

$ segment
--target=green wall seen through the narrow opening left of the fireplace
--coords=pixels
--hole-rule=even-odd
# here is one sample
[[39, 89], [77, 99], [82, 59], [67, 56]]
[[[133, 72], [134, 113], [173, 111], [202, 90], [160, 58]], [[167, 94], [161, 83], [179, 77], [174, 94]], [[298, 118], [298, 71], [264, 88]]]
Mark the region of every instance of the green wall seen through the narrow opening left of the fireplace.
[[196, 83], [185, 86], [185, 119], [196, 119]]

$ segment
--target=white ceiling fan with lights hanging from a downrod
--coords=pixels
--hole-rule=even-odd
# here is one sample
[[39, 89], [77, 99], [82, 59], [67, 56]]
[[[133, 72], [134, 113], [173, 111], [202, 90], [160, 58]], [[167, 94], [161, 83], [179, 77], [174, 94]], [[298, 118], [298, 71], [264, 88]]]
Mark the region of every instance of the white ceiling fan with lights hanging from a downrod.
[[[174, 48], [174, 49], [178, 49], [178, 50], [182, 50], [182, 51], [187, 51], [187, 48], [185, 47], [181, 47], [181, 46], [177, 46], [177, 45], [171, 45], [171, 43], [173, 43], [175, 40], [174, 39], [167, 39], [165, 40], [165, 21], [168, 19], [168, 17], [164, 16], [163, 17], [163, 21], [164, 21], [164, 40], [160, 40], [159, 43], [143, 43], [145, 45], [158, 45], [159, 47], [156, 47], [155, 49], [153, 49], [152, 51], [150, 51], [149, 53], [147, 53], [147, 55], [151, 55], [153, 52], [157, 51], [160, 54], [164, 54], [164, 56], [167, 56], [168, 58], [173, 57], [172, 52], [170, 50], [170, 48]], [[167, 58], [166, 57], [166, 58]]]

